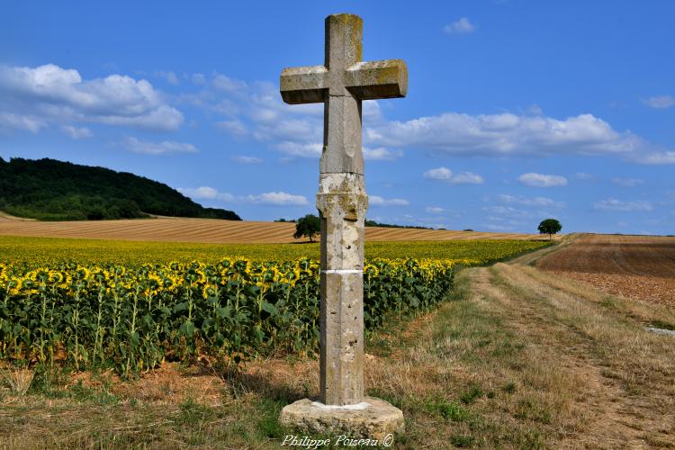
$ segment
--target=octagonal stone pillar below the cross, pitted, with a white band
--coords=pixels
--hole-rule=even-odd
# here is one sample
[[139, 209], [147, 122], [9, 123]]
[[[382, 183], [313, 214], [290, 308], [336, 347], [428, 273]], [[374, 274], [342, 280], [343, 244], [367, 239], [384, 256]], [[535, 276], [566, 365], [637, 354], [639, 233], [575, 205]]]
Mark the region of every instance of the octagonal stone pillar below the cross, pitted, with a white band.
[[363, 175], [320, 175], [320, 397], [329, 405], [363, 400], [367, 207]]

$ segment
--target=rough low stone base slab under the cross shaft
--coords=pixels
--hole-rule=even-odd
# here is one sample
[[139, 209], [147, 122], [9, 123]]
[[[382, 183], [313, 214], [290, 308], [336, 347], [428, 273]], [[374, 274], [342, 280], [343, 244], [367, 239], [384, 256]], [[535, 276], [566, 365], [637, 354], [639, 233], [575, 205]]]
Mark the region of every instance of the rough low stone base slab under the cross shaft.
[[366, 397], [364, 404], [327, 407], [303, 399], [284, 408], [279, 421], [288, 427], [310, 429], [316, 433], [378, 439], [404, 429], [403, 413], [391, 403]]

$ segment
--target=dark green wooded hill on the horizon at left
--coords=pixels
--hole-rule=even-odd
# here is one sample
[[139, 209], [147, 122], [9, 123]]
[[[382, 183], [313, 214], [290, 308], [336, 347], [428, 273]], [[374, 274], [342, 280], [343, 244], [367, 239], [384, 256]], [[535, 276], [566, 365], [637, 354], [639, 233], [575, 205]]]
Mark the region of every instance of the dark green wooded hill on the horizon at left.
[[241, 220], [204, 208], [166, 184], [55, 159], [0, 157], [0, 210], [40, 220], [134, 219], [148, 214]]

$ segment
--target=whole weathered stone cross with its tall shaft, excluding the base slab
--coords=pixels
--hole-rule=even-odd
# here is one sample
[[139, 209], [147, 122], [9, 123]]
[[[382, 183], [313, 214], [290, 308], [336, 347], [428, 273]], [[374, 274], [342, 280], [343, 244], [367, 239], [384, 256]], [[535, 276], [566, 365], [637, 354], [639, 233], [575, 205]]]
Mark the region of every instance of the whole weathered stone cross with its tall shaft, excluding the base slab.
[[[364, 401], [364, 221], [368, 197], [361, 148], [361, 102], [405, 96], [401, 59], [364, 62], [363, 21], [326, 18], [323, 66], [285, 68], [284, 102], [324, 103], [317, 208], [321, 219], [320, 401]], [[401, 416], [402, 418], [402, 416]]]

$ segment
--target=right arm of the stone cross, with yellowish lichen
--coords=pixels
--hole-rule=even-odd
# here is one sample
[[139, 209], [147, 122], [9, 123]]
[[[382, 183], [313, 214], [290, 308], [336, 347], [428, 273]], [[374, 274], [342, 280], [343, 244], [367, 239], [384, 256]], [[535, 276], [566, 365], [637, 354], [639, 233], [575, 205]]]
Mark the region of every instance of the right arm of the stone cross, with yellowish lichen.
[[347, 87], [361, 100], [404, 97], [408, 67], [402, 59], [357, 62], [347, 68]]

